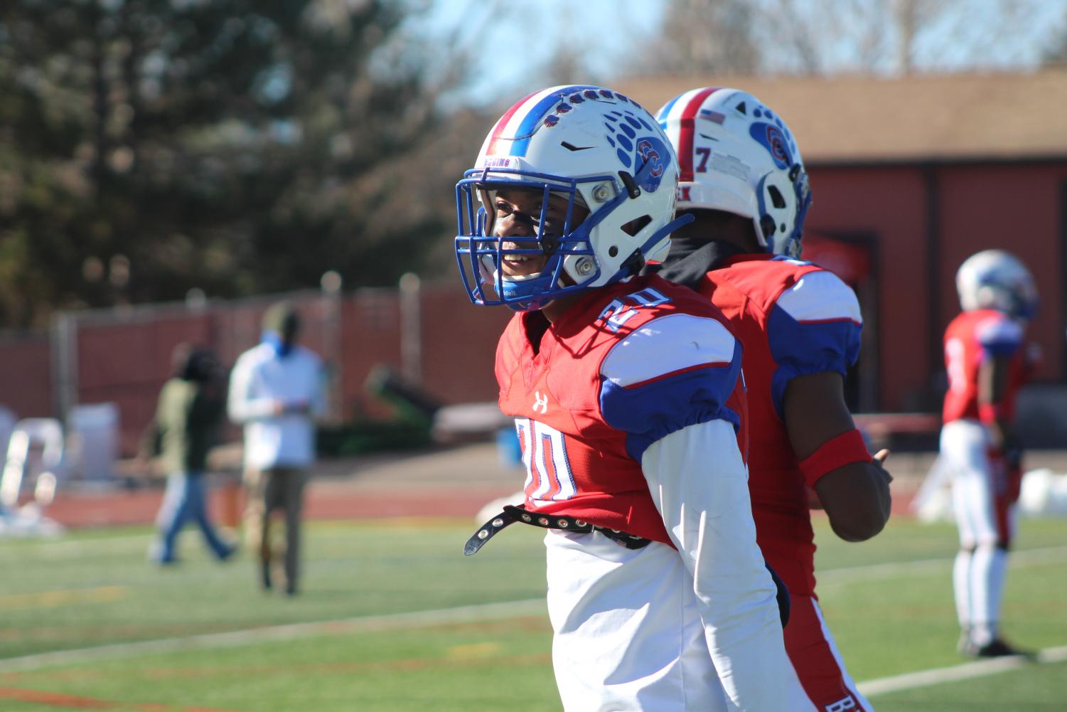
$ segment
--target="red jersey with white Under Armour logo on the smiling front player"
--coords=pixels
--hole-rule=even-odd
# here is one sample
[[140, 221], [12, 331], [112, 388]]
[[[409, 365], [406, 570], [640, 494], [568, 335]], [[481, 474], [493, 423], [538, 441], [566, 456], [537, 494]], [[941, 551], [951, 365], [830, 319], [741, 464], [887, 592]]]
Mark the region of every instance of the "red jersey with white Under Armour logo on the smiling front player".
[[543, 334], [538, 325], [540, 313], [515, 315], [496, 351], [527, 509], [670, 544], [641, 454], [712, 420], [744, 438], [740, 345], [726, 319], [690, 289], [646, 275], [590, 291]]

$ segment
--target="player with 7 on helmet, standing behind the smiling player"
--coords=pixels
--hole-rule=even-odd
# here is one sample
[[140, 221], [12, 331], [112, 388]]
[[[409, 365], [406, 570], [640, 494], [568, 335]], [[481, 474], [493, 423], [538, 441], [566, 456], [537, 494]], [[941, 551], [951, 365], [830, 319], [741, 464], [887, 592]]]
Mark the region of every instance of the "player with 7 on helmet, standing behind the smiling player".
[[815, 596], [813, 489], [833, 531], [873, 537], [889, 518], [889, 474], [845, 405], [862, 319], [851, 289], [795, 257], [811, 201], [789, 127], [751, 94], [702, 88], [658, 112], [680, 164], [674, 233], [659, 275], [719, 307], [744, 346], [749, 488], [760, 547], [793, 601], [785, 645], [808, 696], [802, 709], [867, 710]]

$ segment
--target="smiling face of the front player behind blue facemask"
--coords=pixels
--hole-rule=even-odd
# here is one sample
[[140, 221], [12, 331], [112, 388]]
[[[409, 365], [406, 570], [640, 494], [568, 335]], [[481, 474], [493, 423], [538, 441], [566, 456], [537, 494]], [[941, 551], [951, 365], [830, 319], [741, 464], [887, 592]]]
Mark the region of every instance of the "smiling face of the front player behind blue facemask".
[[[544, 194], [539, 190], [500, 190], [493, 199], [496, 218], [493, 233], [506, 238], [500, 246], [505, 250], [538, 249], [538, 236], [559, 237], [563, 234], [567, 219], [568, 200], [561, 195], [551, 195], [545, 210], [544, 224], [541, 218], [541, 202]], [[589, 215], [589, 210], [575, 205], [571, 211], [570, 228], [573, 231]], [[505, 276], [539, 274], [548, 260], [547, 255], [507, 255], [500, 265]]]

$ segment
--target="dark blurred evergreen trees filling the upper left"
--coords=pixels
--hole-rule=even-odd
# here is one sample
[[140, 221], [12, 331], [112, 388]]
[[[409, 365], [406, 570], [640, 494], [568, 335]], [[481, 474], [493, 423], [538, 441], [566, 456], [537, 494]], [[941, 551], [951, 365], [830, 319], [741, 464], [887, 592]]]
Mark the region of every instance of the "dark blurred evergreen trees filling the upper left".
[[418, 53], [432, 49], [404, 42], [404, 12], [0, 5], [0, 325], [193, 286], [235, 296], [314, 286], [329, 269], [348, 285], [411, 269], [441, 225], [373, 220], [395, 189], [388, 167], [436, 124]]

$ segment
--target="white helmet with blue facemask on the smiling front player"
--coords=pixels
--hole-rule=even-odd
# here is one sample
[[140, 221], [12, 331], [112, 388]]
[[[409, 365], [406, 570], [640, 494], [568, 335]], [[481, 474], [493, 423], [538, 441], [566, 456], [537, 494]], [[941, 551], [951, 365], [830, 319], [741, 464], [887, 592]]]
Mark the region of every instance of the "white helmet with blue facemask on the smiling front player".
[[[691, 220], [673, 219], [676, 184], [670, 142], [633, 99], [590, 85], [530, 94], [500, 116], [456, 186], [456, 257], [467, 295], [476, 304], [528, 311], [637, 273], [666, 256], [671, 231]], [[531, 221], [536, 247], [506, 250], [494, 235], [501, 189], [543, 193]], [[546, 220], [550, 194], [568, 199], [567, 219], [555, 228]], [[589, 210], [580, 224], [571, 221], [575, 205]], [[501, 260], [521, 254], [548, 259], [538, 274], [504, 275]]]

